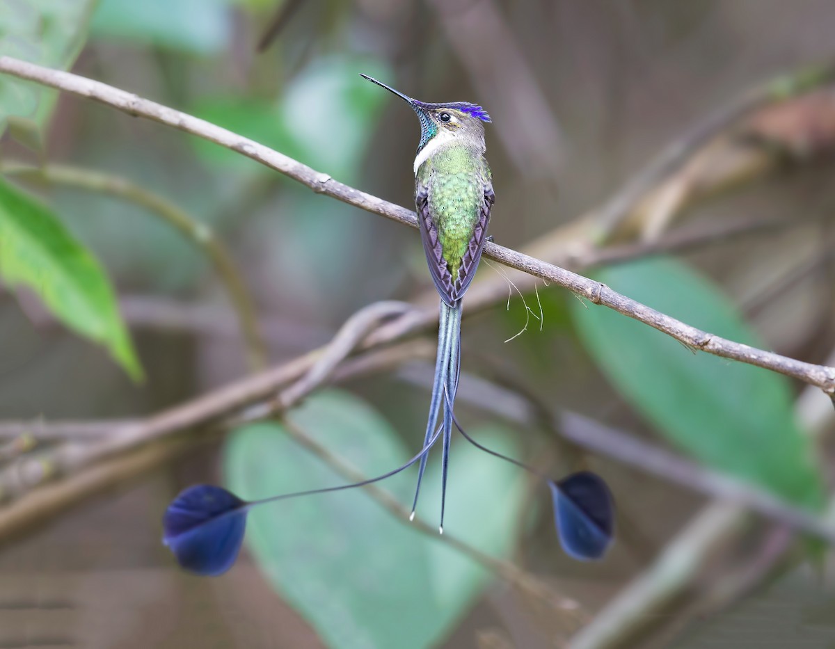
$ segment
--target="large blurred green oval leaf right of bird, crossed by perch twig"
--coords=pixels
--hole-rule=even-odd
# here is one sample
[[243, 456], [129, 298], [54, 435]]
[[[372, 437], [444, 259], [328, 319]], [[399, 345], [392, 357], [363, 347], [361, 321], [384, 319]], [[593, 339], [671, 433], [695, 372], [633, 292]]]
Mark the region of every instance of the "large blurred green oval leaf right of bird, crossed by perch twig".
[[[764, 347], [721, 289], [684, 264], [648, 259], [595, 279], [711, 334]], [[780, 375], [694, 353], [610, 309], [571, 300], [585, 349], [661, 435], [702, 463], [801, 505], [822, 505], [822, 480]], [[576, 303], [576, 304], [574, 304]]]

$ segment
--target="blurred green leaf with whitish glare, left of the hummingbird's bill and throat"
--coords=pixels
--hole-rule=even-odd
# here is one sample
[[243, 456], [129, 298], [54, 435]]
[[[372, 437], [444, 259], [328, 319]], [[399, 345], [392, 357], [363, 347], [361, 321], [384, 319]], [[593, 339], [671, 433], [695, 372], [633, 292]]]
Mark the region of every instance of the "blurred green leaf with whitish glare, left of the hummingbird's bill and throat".
[[[207, 99], [194, 112], [352, 183], [380, 109], [389, 100], [387, 93], [359, 76], [368, 71], [387, 76], [379, 63], [366, 58], [320, 58], [294, 78], [275, 103], [257, 98]], [[415, 129], [417, 137], [417, 123]], [[195, 147], [211, 161], [243, 162], [255, 169], [254, 163], [216, 145], [195, 140]]]

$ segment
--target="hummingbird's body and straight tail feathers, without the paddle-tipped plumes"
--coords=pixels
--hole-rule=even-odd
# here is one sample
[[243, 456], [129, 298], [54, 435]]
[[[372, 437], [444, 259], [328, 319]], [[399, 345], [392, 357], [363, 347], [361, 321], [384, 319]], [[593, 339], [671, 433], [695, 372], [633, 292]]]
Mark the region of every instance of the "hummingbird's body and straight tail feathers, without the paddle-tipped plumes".
[[[377, 79], [361, 75], [405, 101], [420, 121], [420, 143], [414, 160], [415, 210], [423, 252], [440, 295], [438, 356], [423, 445], [429, 444], [442, 415], [441, 523], [447, 494], [449, 445], [453, 435], [453, 405], [461, 357], [461, 305], [487, 240], [490, 213], [496, 202], [493, 174], [485, 157], [487, 111], [475, 103], [424, 103]], [[428, 454], [420, 460], [412, 517], [426, 470]]]

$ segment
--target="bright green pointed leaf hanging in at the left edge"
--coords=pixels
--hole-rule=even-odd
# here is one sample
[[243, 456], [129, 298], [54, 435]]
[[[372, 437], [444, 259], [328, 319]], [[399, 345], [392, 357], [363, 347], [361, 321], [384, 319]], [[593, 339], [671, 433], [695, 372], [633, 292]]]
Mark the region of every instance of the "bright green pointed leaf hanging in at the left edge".
[[63, 324], [104, 345], [134, 380], [141, 379], [107, 274], [46, 206], [2, 179], [0, 278], [32, 289]]

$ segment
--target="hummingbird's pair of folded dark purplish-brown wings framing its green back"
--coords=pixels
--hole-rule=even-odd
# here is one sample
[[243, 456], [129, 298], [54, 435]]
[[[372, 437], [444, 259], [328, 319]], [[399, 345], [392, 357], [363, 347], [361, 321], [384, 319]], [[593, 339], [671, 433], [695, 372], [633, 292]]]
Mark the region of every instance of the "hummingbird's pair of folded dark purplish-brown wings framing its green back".
[[484, 241], [487, 239], [490, 211], [493, 209], [495, 201], [493, 184], [487, 179], [484, 184], [483, 201], [478, 213], [478, 223], [473, 230], [473, 237], [469, 241], [467, 251], [461, 260], [458, 277], [453, 278], [447, 260], [443, 257], [443, 245], [438, 238], [438, 229], [429, 209], [428, 187], [420, 181], [417, 182], [415, 207], [417, 208], [417, 222], [423, 241], [423, 252], [426, 254], [429, 274], [432, 275], [435, 288], [438, 289], [441, 299], [450, 306], [454, 306], [463, 297], [470, 282], [473, 281], [475, 271], [478, 268], [478, 261], [481, 259], [481, 253], [484, 249]]

